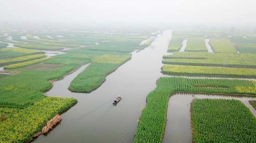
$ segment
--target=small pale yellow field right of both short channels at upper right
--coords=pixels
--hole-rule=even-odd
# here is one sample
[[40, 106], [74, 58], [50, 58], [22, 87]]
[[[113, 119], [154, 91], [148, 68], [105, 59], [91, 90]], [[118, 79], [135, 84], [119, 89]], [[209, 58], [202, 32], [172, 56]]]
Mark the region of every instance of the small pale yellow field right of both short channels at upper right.
[[227, 38], [210, 38], [210, 45], [217, 53], [237, 53], [234, 44]]

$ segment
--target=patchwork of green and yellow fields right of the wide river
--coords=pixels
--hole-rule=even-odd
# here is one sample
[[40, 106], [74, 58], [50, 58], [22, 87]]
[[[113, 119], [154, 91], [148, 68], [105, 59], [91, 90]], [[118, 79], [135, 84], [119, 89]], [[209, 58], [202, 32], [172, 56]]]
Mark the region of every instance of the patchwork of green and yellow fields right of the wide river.
[[[254, 63], [256, 63], [256, 55], [253, 54], [252, 50], [255, 41], [252, 37], [246, 39], [245, 36], [242, 36], [244, 38], [242, 39], [241, 35], [243, 34], [252, 36], [252, 34], [241, 31], [175, 30], [173, 32], [174, 41], [178, 36], [190, 37], [188, 38], [187, 47], [185, 52], [177, 52], [180, 45], [172, 42], [172, 40], [170, 41], [168, 51], [174, 52], [173, 54], [163, 55], [162, 63], [166, 65], [162, 66], [162, 73], [172, 77], [158, 79], [156, 89], [148, 94], [147, 104], [141, 112], [134, 143], [163, 142], [165, 130], [168, 130], [165, 128], [166, 124], [173, 125], [175, 124], [173, 122], [176, 121], [167, 122], [168, 100], [174, 93], [246, 95], [255, 98], [256, 82], [254, 80], [242, 80], [241, 78], [237, 80], [211, 79], [205, 77], [255, 78], [256, 65]], [[203, 36], [210, 39], [210, 45], [214, 53], [204, 52], [206, 47]], [[240, 38], [234, 36], [240, 36]], [[240, 54], [237, 50], [241, 51]], [[177, 74], [196, 77], [176, 77]], [[204, 77], [205, 79], [197, 77]], [[191, 107], [193, 142], [255, 142], [256, 118], [241, 101], [193, 98], [195, 98]], [[175, 104], [179, 103], [175, 102]], [[254, 106], [254, 100], [250, 101], [250, 104]], [[170, 110], [175, 114], [182, 111], [181, 109]], [[182, 117], [183, 114], [187, 114], [187, 112], [177, 113], [177, 119]], [[180, 119], [180, 122], [183, 121], [184, 119]], [[177, 127], [177, 125], [174, 127]], [[187, 130], [183, 126], [180, 126], [180, 128], [182, 128], [181, 131]], [[168, 133], [176, 134], [177, 139], [180, 137], [180, 140], [182, 140], [182, 137], [189, 136], [189, 134], [186, 134], [187, 132], [181, 135], [174, 133], [174, 129], [171, 131]], [[178, 133], [179, 131], [177, 130]], [[164, 140], [164, 142], [177, 141], [179, 140]]]

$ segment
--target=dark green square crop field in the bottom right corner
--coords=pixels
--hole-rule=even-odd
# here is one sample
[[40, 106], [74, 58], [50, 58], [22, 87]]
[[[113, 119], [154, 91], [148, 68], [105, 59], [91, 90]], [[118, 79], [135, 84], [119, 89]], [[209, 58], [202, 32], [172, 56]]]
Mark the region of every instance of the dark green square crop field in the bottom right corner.
[[195, 143], [256, 142], [256, 118], [241, 101], [195, 99], [191, 118]]

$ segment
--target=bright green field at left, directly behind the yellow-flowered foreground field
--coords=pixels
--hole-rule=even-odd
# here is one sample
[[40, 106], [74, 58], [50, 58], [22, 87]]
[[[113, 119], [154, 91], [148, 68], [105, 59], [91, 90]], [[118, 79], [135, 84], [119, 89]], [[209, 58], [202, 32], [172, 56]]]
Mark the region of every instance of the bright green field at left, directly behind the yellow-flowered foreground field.
[[[49, 61], [51, 64], [58, 64], [58, 61], [54, 60]], [[46, 97], [42, 92], [51, 89], [52, 83], [48, 82], [49, 80], [60, 79], [88, 62], [88, 60], [76, 60], [72, 64], [63, 63], [54, 70], [25, 69], [21, 73], [0, 78], [0, 106], [18, 108], [31, 106]]]

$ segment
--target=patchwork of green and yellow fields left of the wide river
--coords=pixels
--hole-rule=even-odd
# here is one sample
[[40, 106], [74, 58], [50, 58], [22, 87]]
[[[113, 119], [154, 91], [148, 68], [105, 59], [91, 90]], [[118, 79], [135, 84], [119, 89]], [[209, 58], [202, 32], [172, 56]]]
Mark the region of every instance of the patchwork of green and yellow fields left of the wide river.
[[[61, 79], [90, 63], [69, 89], [91, 92], [105, 81], [107, 74], [131, 59], [130, 52], [142, 50], [152, 42], [139, 45], [149, 35], [92, 32], [13, 31], [9, 35], [19, 42], [15, 42], [16, 48], [0, 49], [0, 65], [4, 66], [1, 72], [9, 73], [0, 74], [0, 142], [6, 143], [30, 140], [48, 120], [76, 104], [74, 98], [44, 95], [53, 86], [50, 80]], [[21, 38], [24, 36], [27, 39]], [[68, 50], [63, 51], [65, 48]], [[46, 57], [42, 50], [65, 54]]]

